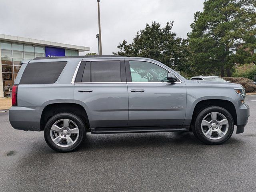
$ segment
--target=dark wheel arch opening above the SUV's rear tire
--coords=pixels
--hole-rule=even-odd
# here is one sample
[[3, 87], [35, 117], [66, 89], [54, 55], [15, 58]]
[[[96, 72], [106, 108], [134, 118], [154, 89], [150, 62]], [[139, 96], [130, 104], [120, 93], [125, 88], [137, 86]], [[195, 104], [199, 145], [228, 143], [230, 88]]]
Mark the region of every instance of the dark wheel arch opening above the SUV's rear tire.
[[44, 130], [44, 126], [46, 122], [55, 114], [62, 112], [70, 112], [78, 115], [86, 124], [86, 129], [89, 131], [90, 123], [86, 113], [86, 110], [83, 106], [75, 103], [53, 103], [48, 104], [42, 110], [41, 118], [40, 118], [40, 130]]

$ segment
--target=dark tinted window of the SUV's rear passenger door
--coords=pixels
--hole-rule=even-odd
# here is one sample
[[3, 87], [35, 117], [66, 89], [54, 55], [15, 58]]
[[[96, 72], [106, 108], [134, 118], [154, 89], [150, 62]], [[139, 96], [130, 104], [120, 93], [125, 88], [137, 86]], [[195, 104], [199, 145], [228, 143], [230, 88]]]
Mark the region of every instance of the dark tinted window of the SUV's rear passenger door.
[[[80, 70], [83, 68], [81, 77]], [[121, 82], [121, 63], [120, 61], [82, 62], [76, 76], [76, 82]]]

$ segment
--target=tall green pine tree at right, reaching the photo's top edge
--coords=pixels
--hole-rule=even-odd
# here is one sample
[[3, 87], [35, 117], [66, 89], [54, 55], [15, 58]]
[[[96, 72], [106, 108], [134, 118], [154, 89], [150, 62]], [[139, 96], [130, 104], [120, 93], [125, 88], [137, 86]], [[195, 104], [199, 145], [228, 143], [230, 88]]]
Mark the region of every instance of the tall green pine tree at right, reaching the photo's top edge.
[[196, 72], [231, 76], [235, 63], [252, 61], [256, 0], [206, 0], [188, 33]]

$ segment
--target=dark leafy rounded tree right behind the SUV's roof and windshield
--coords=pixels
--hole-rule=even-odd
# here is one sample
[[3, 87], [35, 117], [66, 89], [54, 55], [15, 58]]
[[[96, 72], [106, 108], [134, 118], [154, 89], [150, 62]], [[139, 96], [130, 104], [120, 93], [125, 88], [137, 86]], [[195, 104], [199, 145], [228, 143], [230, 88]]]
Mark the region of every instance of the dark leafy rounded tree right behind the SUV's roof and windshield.
[[172, 22], [167, 22], [164, 28], [156, 22], [146, 24], [146, 28], [137, 32], [131, 44], [124, 40], [117, 47], [115, 55], [146, 57], [158, 60], [167, 66], [179, 71], [190, 70], [190, 50], [188, 41], [176, 37], [172, 32]]

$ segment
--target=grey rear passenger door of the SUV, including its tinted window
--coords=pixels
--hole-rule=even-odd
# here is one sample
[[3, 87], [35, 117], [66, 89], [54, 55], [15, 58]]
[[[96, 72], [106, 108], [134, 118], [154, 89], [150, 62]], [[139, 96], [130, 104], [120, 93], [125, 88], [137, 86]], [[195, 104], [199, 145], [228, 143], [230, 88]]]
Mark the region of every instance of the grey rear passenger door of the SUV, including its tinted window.
[[86, 109], [91, 128], [127, 126], [124, 59], [83, 60], [74, 83], [74, 102]]

